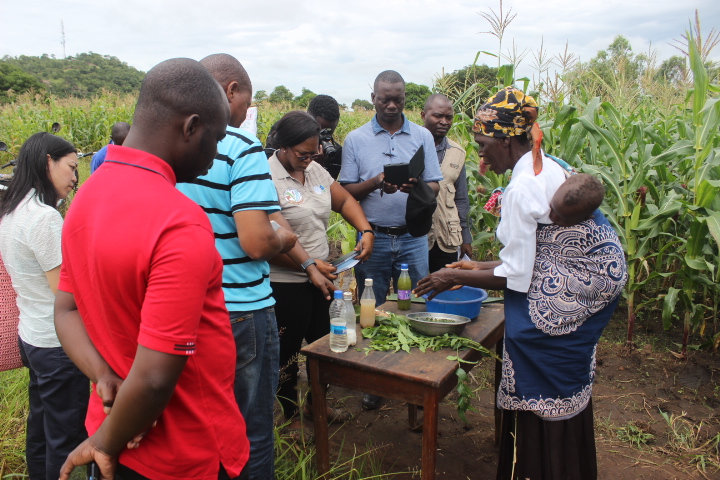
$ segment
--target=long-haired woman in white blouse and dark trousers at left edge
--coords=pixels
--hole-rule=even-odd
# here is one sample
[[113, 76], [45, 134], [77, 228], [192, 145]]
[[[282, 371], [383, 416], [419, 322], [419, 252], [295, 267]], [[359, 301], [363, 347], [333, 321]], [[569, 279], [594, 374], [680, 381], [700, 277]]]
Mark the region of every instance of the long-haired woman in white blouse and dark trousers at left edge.
[[76, 152], [55, 135], [31, 136], [0, 202], [0, 253], [17, 293], [20, 354], [30, 370], [31, 480], [57, 479], [68, 454], [87, 438], [90, 383], [63, 351], [53, 322], [63, 225], [56, 206], [77, 184]]

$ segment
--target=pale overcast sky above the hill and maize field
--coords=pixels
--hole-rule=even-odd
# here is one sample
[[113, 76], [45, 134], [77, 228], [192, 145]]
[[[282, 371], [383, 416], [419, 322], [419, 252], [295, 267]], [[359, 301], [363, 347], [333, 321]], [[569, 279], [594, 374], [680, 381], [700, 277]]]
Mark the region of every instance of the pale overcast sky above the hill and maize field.
[[[568, 49], [587, 61], [616, 35], [635, 52], [668, 45], [700, 11], [703, 32], [720, 28], [720, 1], [507, 0], [517, 16], [505, 33], [503, 53], [514, 40], [529, 50], [519, 73], [531, 77], [541, 41], [550, 54]], [[370, 98], [383, 70], [431, 86], [443, 70], [473, 62], [478, 51], [497, 52], [497, 38], [478, 14], [499, 13], [495, 0], [0, 0], [0, 56], [63, 56], [93, 51], [147, 71], [172, 57], [201, 59], [229, 53], [245, 66], [257, 90], [303, 87], [341, 103]], [[720, 46], [711, 58], [720, 59]], [[497, 65], [487, 55], [479, 63]], [[503, 62], [505, 63], [505, 62]]]

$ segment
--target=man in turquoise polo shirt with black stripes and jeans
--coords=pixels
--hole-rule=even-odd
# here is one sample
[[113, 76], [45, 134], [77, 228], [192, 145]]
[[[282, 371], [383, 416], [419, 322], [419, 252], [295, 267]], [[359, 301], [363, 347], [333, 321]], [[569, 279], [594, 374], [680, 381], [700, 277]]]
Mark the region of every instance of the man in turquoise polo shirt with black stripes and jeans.
[[260, 141], [238, 128], [252, 100], [247, 72], [234, 57], [210, 55], [200, 63], [220, 83], [230, 103], [230, 125], [210, 171], [178, 184], [210, 217], [223, 259], [223, 292], [237, 347], [235, 399], [247, 424], [251, 479], [273, 479], [273, 406], [279, 375], [279, 342], [267, 260], [286, 253], [297, 237], [273, 230], [280, 210]]

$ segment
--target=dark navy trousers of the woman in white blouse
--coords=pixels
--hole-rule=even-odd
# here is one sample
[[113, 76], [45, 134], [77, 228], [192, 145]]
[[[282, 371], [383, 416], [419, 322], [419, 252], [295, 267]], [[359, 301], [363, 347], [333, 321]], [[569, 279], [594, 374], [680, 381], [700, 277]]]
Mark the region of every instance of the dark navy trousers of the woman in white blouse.
[[30, 480], [57, 480], [70, 452], [87, 438], [90, 381], [62, 347], [33, 347], [22, 340], [20, 356], [30, 370], [25, 457]]

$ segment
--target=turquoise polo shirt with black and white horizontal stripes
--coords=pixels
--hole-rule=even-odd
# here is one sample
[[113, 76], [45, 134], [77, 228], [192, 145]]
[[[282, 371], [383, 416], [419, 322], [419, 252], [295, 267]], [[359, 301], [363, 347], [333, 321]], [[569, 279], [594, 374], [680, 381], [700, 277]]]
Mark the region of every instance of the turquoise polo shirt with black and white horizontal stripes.
[[205, 210], [223, 259], [223, 292], [230, 313], [259, 310], [275, 304], [270, 266], [245, 254], [238, 240], [233, 214], [244, 210], [280, 210], [260, 141], [245, 130], [227, 127], [218, 143], [212, 168], [177, 188]]

